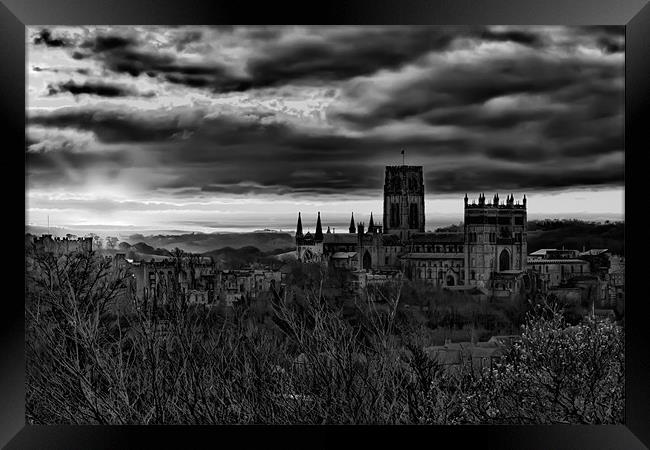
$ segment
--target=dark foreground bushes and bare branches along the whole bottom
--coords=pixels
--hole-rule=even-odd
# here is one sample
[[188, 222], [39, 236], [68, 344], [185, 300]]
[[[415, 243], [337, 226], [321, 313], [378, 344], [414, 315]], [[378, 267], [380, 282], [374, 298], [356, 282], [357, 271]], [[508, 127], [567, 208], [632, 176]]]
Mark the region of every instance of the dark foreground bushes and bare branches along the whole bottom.
[[623, 331], [612, 322], [570, 327], [555, 310], [534, 310], [493, 365], [449, 370], [424, 351], [426, 326], [400, 319], [403, 286], [369, 292], [349, 320], [324, 294], [345, 280], [299, 276], [271, 295], [266, 315], [248, 302], [189, 305], [175, 283], [166, 303], [143, 303], [105, 259], [36, 255], [27, 422], [622, 422]]

